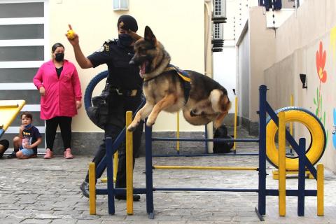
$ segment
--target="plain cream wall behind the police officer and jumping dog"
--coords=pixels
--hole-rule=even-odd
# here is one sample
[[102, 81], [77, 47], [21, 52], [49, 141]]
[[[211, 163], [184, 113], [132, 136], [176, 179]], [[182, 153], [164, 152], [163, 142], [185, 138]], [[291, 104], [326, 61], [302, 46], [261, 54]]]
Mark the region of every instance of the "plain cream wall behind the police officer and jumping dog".
[[[60, 3], [57, 3], [60, 2]], [[100, 48], [109, 38], [117, 38], [116, 22], [125, 14], [133, 15], [139, 25], [138, 33], [144, 35], [146, 25], [165, 45], [172, 56], [172, 64], [181, 69], [192, 69], [204, 73], [204, 0], [130, 0], [130, 10], [113, 11], [112, 0], [60, 0], [50, 1], [50, 48], [55, 42], [65, 45], [65, 57], [76, 64], [83, 94], [87, 83], [105, 65], [95, 69], [80, 69], [73, 56], [71, 45], [64, 34], [70, 23], [79, 35], [85, 55]], [[101, 87], [96, 88], [97, 94]], [[204, 127], [188, 125], [181, 117], [181, 131], [203, 131]], [[80, 109], [73, 119], [74, 132], [99, 132], [87, 118], [85, 109]], [[153, 130], [176, 130], [176, 115], [162, 113]]]

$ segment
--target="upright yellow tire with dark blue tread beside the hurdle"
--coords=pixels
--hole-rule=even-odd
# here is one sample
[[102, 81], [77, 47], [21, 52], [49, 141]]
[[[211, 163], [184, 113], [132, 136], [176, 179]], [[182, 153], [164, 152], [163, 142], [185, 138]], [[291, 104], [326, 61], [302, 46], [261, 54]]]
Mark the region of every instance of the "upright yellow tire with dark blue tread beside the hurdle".
[[[282, 111], [285, 113], [286, 123], [301, 123], [309, 130], [311, 134], [311, 145], [306, 150], [306, 156], [311, 164], [315, 165], [316, 162], [321, 159], [326, 144], [325, 130], [321, 121], [310, 111], [295, 106], [279, 109], [278, 111], [275, 111], [275, 113], [278, 114]], [[271, 119], [267, 121], [266, 132], [267, 160], [274, 165], [274, 167], [278, 168], [279, 153], [275, 145], [275, 136], [276, 132], [278, 132], [278, 127]], [[298, 161], [297, 157], [286, 157], [286, 170], [297, 171], [299, 168]]]

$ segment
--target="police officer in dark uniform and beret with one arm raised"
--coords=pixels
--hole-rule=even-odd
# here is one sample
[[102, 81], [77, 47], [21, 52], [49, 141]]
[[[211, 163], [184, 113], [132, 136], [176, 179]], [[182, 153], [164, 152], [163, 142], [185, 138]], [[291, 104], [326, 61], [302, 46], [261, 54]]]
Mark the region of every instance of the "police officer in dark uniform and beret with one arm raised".
[[[112, 137], [113, 141], [125, 127], [126, 111], [133, 111], [134, 113], [139, 104], [141, 104], [143, 82], [139, 76], [139, 68], [137, 66], [130, 65], [129, 63], [130, 59], [134, 55], [134, 40], [128, 34], [128, 31], [131, 30], [137, 32], [137, 21], [130, 15], [121, 15], [118, 19], [117, 26], [118, 39], [106, 41], [99, 50], [88, 57], [85, 57], [83, 52], [80, 50], [77, 34], [75, 34], [72, 39], [68, 38], [71, 45], [73, 45], [76, 61], [82, 69], [95, 68], [100, 64], [107, 64], [108, 66], [109, 76], [106, 80], [106, 86], [109, 87], [110, 92], [109, 119], [104, 127], [104, 131], [105, 138]], [[134, 155], [137, 155], [137, 151], [139, 150], [143, 125], [139, 125], [138, 127], [139, 128], [133, 134]], [[106, 145], [105, 140], [103, 140], [92, 162], [99, 165], [99, 162], [104, 158], [105, 154]], [[125, 142], [118, 148], [118, 156], [119, 162], [116, 188], [125, 188]], [[102, 174], [97, 174], [96, 181], [100, 178], [100, 176], [102, 176]], [[89, 179], [87, 175], [85, 181], [80, 186], [80, 190], [82, 190], [85, 197], [89, 197], [88, 181]], [[126, 196], [125, 194], [116, 195], [116, 199], [125, 200]], [[139, 199], [139, 195], [133, 196], [134, 201], [138, 201]]]

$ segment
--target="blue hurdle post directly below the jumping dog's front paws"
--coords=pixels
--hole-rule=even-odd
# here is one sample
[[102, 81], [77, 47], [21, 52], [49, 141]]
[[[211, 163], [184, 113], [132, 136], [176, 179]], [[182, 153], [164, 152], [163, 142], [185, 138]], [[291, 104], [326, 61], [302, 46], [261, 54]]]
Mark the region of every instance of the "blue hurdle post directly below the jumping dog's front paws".
[[153, 202], [153, 164], [152, 164], [152, 127], [145, 125], [146, 134], [146, 209], [148, 218], [154, 218]]

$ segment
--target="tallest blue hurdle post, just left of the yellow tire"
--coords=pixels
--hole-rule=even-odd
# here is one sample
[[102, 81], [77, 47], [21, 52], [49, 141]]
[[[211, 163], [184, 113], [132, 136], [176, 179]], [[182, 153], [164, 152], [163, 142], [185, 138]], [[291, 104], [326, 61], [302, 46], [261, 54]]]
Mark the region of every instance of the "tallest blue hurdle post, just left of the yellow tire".
[[259, 183], [258, 211], [266, 214], [266, 85], [259, 87]]

